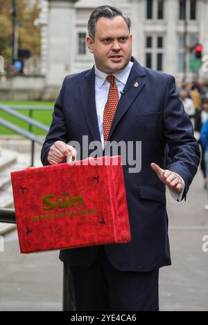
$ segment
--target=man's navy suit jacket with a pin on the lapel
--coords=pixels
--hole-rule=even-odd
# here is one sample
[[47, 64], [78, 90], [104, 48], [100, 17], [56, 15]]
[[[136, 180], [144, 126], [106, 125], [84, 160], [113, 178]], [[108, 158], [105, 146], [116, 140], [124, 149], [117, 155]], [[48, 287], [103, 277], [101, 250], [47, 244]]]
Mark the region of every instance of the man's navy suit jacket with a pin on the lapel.
[[[144, 68], [133, 57], [132, 61], [126, 92], [121, 95], [108, 137], [109, 141], [117, 142], [141, 141], [141, 171], [130, 174], [129, 166], [123, 166], [132, 241], [105, 245], [105, 252], [118, 270], [148, 272], [171, 264], [166, 189], [150, 163], [166, 169], [168, 145], [169, 169], [184, 179], [183, 198], [186, 198], [200, 151], [192, 124], [177, 96], [174, 78]], [[76, 140], [81, 148], [83, 135], [89, 137], [89, 142], [101, 141], [94, 82], [94, 67], [64, 79], [42, 147], [43, 165], [49, 165], [49, 149], [57, 140], [66, 143]], [[135, 82], [139, 86], [135, 87]], [[98, 246], [61, 250], [60, 259], [71, 266], [85, 267], [93, 263], [97, 253]]]

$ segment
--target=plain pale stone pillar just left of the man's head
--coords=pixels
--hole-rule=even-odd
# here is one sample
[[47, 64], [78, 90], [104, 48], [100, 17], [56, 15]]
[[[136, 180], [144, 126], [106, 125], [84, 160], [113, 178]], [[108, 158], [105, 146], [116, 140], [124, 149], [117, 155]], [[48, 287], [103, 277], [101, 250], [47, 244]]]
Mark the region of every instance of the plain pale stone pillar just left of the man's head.
[[71, 72], [71, 44], [75, 32], [77, 0], [49, 0], [48, 63], [46, 87], [60, 88], [64, 77]]

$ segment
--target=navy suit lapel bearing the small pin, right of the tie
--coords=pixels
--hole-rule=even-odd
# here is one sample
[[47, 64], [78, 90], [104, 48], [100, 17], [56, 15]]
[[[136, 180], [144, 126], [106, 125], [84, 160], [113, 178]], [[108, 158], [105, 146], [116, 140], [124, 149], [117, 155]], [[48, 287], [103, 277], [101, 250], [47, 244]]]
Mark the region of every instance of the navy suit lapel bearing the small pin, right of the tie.
[[142, 68], [142, 66], [140, 66], [140, 64], [135, 60], [130, 71], [128, 80], [124, 87], [125, 94], [121, 95], [121, 99], [119, 100], [119, 104], [116, 109], [114, 120], [112, 122], [112, 126], [107, 140], [110, 140], [110, 137], [112, 136], [112, 133], [116, 128], [117, 124], [119, 123], [125, 112], [128, 111], [137, 95], [139, 95], [140, 91], [144, 88], [144, 85], [146, 84], [144, 80], [144, 75], [146, 75], [144, 68]]

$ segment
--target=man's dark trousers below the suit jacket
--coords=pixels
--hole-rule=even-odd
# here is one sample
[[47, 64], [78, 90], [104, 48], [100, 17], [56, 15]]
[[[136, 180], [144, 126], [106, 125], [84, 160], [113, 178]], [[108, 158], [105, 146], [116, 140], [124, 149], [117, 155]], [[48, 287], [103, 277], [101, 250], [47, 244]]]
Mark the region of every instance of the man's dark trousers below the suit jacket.
[[76, 311], [157, 311], [158, 276], [153, 272], [123, 272], [108, 261], [103, 246], [88, 268], [64, 264]]

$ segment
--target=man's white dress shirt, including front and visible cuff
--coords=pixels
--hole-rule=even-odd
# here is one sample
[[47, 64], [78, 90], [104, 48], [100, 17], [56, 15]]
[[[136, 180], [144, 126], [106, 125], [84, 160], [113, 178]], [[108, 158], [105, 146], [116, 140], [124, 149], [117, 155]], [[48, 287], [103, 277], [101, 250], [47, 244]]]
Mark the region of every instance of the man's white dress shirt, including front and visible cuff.
[[[128, 76], [130, 75], [130, 71], [132, 68], [133, 62], [129, 62], [128, 65], [120, 72], [114, 73], [116, 86], [119, 90], [119, 99], [121, 98], [121, 91], [123, 91], [124, 86], [128, 80]], [[105, 108], [105, 104], [107, 102], [107, 95], [108, 91], [110, 89], [110, 82], [106, 80], [107, 74], [98, 70], [98, 68], [95, 66], [95, 101], [96, 101], [96, 112], [98, 117], [98, 127], [101, 134], [101, 142], [102, 147], [104, 149], [104, 137], [103, 137], [103, 111]], [[175, 173], [176, 174], [176, 173]], [[178, 174], [177, 174], [178, 175]], [[182, 177], [178, 175], [181, 179]], [[177, 201], [181, 201], [182, 194], [184, 192], [184, 180], [183, 182], [183, 189], [182, 192], [177, 193], [173, 191], [173, 189], [168, 189], [171, 192], [171, 196]]]

